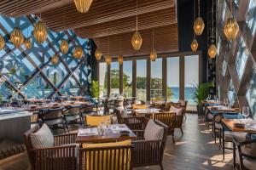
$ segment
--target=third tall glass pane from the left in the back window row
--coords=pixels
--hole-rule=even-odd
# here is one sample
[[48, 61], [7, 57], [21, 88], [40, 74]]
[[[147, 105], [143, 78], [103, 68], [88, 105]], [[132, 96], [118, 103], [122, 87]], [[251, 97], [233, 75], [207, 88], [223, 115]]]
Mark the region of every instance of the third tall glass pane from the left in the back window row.
[[123, 93], [125, 97], [132, 96], [132, 61], [123, 63]]

